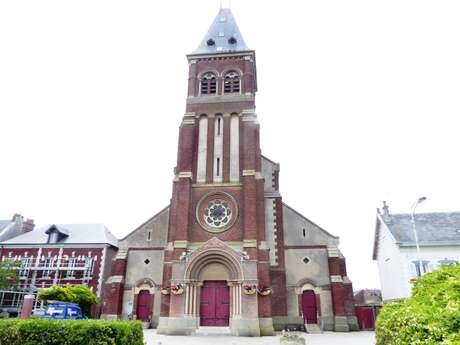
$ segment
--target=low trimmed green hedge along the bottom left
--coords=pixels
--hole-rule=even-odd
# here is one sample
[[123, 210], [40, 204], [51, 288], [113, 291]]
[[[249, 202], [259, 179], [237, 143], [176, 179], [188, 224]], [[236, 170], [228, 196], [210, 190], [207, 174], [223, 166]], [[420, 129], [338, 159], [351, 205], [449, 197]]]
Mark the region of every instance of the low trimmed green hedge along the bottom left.
[[144, 345], [139, 321], [0, 320], [0, 345]]

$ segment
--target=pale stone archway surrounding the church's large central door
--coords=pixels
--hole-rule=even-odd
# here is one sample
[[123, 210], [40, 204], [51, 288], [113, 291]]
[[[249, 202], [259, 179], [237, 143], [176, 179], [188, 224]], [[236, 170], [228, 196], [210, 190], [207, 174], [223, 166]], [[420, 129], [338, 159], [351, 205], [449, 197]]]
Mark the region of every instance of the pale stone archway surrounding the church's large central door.
[[245, 294], [245, 284], [257, 284], [257, 263], [214, 237], [172, 263], [171, 284], [183, 291], [169, 296], [169, 315], [160, 317], [159, 334], [193, 334], [200, 325], [203, 281], [224, 281], [229, 291], [229, 326], [233, 335], [260, 336], [257, 294]]

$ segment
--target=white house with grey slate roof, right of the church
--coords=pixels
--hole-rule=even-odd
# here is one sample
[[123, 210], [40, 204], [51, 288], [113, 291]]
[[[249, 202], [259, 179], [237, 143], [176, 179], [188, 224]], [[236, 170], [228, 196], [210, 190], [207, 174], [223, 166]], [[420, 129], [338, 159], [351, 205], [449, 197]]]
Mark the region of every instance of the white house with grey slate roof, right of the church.
[[384, 302], [409, 297], [411, 279], [440, 265], [460, 262], [460, 212], [414, 216], [420, 247], [415, 246], [411, 214], [377, 209], [373, 259], [377, 261]]

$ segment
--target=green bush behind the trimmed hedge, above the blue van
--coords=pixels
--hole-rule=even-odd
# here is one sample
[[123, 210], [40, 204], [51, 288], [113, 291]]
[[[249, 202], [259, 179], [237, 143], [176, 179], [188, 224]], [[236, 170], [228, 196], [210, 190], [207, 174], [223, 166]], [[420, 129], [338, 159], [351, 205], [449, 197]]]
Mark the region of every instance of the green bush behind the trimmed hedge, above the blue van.
[[91, 306], [99, 303], [96, 294], [84, 285], [55, 285], [49, 289], [40, 290], [38, 298], [43, 301], [56, 300], [78, 304], [83, 314], [87, 316], [91, 314]]

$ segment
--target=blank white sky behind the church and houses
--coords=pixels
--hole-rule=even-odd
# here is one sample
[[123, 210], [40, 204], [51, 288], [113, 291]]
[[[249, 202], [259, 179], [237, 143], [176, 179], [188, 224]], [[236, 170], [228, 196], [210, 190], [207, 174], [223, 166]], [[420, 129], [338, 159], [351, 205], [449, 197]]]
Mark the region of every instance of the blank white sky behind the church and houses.
[[[378, 287], [375, 209], [460, 210], [460, 2], [243, 1], [263, 154], [286, 203]], [[103, 222], [169, 203], [200, 1], [0, 2], [0, 219]]]

